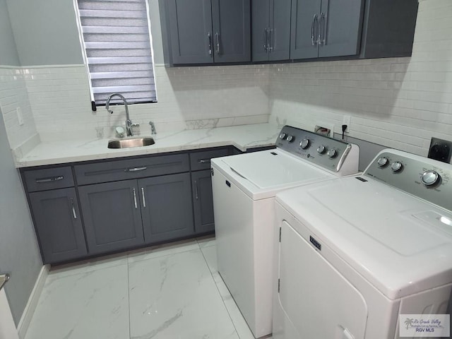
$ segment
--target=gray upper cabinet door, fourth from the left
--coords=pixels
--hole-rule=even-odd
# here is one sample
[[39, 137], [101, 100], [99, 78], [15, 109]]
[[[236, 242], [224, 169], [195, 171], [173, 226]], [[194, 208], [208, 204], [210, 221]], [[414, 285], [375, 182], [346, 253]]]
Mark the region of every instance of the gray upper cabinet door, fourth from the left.
[[[253, 1], [254, 2], [254, 1]], [[290, 58], [290, 7], [291, 0], [270, 0], [270, 60]]]

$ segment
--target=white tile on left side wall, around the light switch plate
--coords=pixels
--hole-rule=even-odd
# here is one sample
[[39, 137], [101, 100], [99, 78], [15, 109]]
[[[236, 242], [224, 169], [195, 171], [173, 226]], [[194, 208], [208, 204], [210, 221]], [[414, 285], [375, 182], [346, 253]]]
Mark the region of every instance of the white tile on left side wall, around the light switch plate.
[[[0, 66], [0, 111], [11, 149], [18, 148], [27, 141], [39, 141], [25, 86], [26, 76], [25, 69]], [[24, 124], [21, 126], [16, 113], [17, 107], [20, 107], [23, 116]]]

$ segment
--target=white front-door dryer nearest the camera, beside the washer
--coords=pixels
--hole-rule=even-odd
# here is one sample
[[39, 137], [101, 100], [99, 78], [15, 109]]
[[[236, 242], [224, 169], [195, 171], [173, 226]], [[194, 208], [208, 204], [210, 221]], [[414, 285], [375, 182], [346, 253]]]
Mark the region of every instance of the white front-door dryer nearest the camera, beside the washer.
[[399, 314], [446, 314], [452, 165], [383, 150], [275, 205], [274, 339], [393, 339]]

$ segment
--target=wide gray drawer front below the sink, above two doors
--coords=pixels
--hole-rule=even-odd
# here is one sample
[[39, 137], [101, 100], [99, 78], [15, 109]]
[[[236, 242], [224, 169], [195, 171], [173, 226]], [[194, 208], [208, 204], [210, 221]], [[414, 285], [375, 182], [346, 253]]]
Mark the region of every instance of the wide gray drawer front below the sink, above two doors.
[[188, 172], [190, 170], [188, 154], [98, 162], [88, 165], [76, 165], [74, 168], [79, 185], [154, 177], [156, 175]]

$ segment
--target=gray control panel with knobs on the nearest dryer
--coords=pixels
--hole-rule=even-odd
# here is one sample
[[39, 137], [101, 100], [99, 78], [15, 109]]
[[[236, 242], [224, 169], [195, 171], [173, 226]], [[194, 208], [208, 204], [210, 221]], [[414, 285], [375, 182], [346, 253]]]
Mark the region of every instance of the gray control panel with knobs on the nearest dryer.
[[398, 150], [383, 150], [364, 176], [452, 210], [451, 164]]

